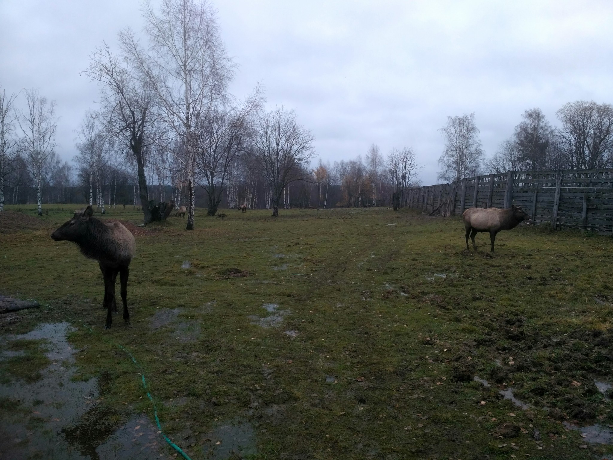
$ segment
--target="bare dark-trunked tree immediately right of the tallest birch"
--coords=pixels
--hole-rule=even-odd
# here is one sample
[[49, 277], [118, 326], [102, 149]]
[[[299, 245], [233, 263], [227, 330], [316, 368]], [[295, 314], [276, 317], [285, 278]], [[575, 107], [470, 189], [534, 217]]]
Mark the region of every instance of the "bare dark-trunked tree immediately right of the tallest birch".
[[224, 184], [237, 155], [248, 147], [251, 118], [259, 110], [258, 91], [237, 107], [216, 107], [196, 123], [196, 165], [208, 197], [207, 215], [214, 216]]

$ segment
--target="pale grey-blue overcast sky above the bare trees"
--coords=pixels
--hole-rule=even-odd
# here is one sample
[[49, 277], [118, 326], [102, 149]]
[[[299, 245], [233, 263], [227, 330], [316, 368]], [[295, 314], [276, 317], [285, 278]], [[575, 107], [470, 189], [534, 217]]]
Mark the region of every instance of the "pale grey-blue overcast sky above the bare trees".
[[[102, 40], [140, 31], [140, 0], [0, 1], [0, 86], [57, 102], [58, 152], [97, 87], [79, 74]], [[219, 0], [231, 89], [256, 82], [268, 104], [295, 109], [324, 161], [410, 146], [436, 183], [446, 117], [475, 112], [487, 155], [524, 110], [577, 99], [613, 102], [611, 1]], [[22, 102], [21, 99], [20, 102]]]

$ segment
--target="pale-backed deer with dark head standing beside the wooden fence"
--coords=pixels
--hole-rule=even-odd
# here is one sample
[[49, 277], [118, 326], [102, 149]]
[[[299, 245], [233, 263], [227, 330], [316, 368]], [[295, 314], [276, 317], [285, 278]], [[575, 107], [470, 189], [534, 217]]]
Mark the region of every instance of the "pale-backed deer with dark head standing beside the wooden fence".
[[489, 232], [492, 242], [491, 252], [493, 252], [496, 234], [501, 230], [516, 228], [520, 222], [530, 220], [530, 215], [522, 210], [521, 206], [512, 205], [508, 209], [468, 208], [462, 214], [462, 218], [466, 227], [466, 249], [468, 249], [468, 236], [473, 240], [473, 248], [476, 251], [474, 236], [478, 232]]

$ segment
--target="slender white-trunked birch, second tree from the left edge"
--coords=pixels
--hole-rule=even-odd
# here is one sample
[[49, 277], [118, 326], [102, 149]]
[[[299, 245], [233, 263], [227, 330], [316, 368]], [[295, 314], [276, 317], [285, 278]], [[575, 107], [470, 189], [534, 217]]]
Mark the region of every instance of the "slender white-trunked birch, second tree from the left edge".
[[21, 150], [26, 153], [28, 167], [36, 187], [38, 214], [42, 216], [42, 185], [45, 168], [55, 149], [55, 101], [48, 102], [38, 90], [26, 90], [26, 110], [21, 112], [18, 123], [23, 132]]

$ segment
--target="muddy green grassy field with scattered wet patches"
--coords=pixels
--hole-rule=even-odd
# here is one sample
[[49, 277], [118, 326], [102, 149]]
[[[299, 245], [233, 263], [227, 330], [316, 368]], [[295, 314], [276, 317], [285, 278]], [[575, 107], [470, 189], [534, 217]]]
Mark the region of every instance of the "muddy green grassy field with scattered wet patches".
[[[116, 315], [105, 331], [97, 264], [49, 237], [77, 207], [50, 205], [40, 218], [34, 207], [10, 209], [0, 294], [45, 306], [2, 315], [3, 349], [28, 359], [0, 361], [0, 372], [36, 380], [44, 344], [6, 334], [69, 321], [70, 343], [87, 350], [75, 378], [101, 382], [88, 423], [109, 434], [153, 413], [140, 369], [104, 339], [142, 365], [164, 431], [192, 459], [215, 457], [221, 425], [253, 431], [254, 459], [613, 451], [565, 425], [613, 424], [595, 385], [613, 363], [611, 237], [520, 226], [499, 234], [490, 255], [484, 234], [479, 251], [465, 250], [459, 218], [412, 210], [281, 210], [278, 219], [197, 210], [191, 232], [181, 218], [131, 226], [132, 324]], [[101, 218], [139, 217], [129, 207]], [[504, 399], [508, 388], [530, 407]], [[29, 416], [10, 398], [2, 409]]]

